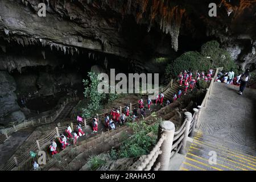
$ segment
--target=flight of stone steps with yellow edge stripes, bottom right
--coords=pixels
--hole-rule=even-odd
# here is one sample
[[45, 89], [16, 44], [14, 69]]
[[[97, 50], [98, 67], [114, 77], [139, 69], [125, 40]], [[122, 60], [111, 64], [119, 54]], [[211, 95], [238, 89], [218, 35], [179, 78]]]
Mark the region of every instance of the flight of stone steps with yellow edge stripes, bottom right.
[[[216, 164], [209, 163], [209, 159], [213, 158], [213, 153], [216, 154]], [[180, 170], [255, 171], [256, 149], [198, 131]]]

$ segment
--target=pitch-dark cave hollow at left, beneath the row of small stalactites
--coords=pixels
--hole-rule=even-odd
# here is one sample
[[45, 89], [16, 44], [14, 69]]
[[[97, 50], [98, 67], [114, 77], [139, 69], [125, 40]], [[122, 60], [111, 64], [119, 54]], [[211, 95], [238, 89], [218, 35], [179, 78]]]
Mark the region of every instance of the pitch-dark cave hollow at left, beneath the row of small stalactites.
[[61, 98], [73, 96], [75, 90], [78, 97], [84, 97], [82, 80], [88, 79], [90, 71], [110, 73], [114, 68], [116, 73], [134, 72], [128, 59], [102, 52], [86, 49], [72, 55], [50, 47], [9, 44], [6, 55], [11, 47], [15, 50], [13, 57], [24, 61], [9, 72], [16, 82], [17, 103], [40, 113], [52, 110]]

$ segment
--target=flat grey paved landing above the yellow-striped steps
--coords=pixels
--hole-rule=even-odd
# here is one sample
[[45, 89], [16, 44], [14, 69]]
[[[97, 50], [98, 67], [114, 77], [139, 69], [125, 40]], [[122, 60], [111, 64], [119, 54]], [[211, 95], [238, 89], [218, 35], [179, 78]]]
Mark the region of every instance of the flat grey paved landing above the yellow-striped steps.
[[199, 130], [224, 140], [256, 147], [256, 90], [215, 82], [207, 107], [202, 110]]

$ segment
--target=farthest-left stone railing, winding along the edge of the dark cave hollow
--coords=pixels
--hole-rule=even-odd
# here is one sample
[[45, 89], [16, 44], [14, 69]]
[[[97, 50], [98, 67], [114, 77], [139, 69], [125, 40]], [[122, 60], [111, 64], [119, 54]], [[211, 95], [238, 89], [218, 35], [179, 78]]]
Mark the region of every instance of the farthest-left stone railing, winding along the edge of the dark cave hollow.
[[29, 126], [40, 126], [40, 125], [44, 125], [46, 123], [51, 123], [53, 121], [55, 121], [55, 119], [57, 119], [57, 117], [59, 117], [60, 113], [63, 111], [63, 109], [65, 108], [65, 106], [72, 101], [77, 101], [79, 100], [78, 97], [72, 97], [72, 98], [67, 98], [67, 100], [65, 100], [63, 102], [63, 104], [61, 104], [61, 107], [59, 109], [56, 110], [56, 113], [51, 115], [50, 117], [44, 117], [44, 118], [38, 118], [38, 119], [31, 119], [30, 121], [23, 121], [22, 123], [19, 123], [18, 125], [13, 125], [13, 127], [10, 127], [8, 129], [5, 129], [2, 131], [2, 133], [0, 134], [0, 144], [2, 144], [3, 142], [5, 142], [5, 140], [9, 139], [9, 137], [16, 131], [18, 130], [23, 130], [26, 127]]

